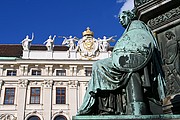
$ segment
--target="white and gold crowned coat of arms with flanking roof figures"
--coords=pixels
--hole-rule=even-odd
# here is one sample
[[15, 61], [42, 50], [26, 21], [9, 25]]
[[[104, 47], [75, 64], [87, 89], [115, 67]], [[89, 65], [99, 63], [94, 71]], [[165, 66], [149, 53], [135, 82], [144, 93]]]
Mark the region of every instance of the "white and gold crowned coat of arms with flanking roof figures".
[[[98, 38], [97, 40], [94, 38], [94, 33], [89, 27], [86, 28], [82, 35], [83, 37], [81, 39], [72, 36], [59, 36], [64, 38], [62, 45], [69, 47], [69, 50], [67, 51], [68, 58], [76, 58], [77, 56], [81, 56], [82, 58], [87, 58], [90, 60], [99, 56], [101, 52], [108, 52], [110, 47], [109, 43], [115, 41], [113, 39], [115, 36], [109, 38], [104, 36], [102, 39]], [[78, 41], [77, 44], [76, 41]]]

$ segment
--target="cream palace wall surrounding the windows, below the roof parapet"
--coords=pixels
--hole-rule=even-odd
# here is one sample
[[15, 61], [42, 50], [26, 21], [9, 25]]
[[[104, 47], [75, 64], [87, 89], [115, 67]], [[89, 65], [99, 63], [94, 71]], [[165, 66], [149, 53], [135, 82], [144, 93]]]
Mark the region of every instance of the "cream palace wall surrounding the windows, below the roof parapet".
[[[96, 60], [42, 59], [41, 52], [26, 59], [0, 60], [1, 119], [28, 120], [35, 115], [41, 120], [54, 120], [63, 115], [71, 120], [76, 115], [90, 79], [85, 76], [85, 69], [91, 68]], [[7, 76], [8, 70], [16, 70], [16, 76]], [[40, 70], [41, 75], [33, 76], [32, 70]], [[57, 70], [66, 70], [66, 76], [56, 76]], [[30, 103], [31, 87], [40, 87], [40, 104]], [[56, 104], [57, 87], [66, 88], [66, 104]], [[13, 105], [4, 104], [6, 88], [15, 88]]]

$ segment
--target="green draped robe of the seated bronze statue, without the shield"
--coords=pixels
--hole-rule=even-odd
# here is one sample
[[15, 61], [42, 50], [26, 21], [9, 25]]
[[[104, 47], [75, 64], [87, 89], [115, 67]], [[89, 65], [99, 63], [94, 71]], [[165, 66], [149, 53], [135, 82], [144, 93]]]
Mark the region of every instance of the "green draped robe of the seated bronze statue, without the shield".
[[[93, 112], [96, 111], [94, 109], [94, 106], [97, 107], [101, 106], [99, 104], [103, 103], [103, 99], [101, 100], [100, 103], [97, 103], [97, 96], [103, 96], [104, 95], [109, 95], [109, 99], [107, 100], [108, 97], [105, 97], [104, 105], [101, 107], [109, 107], [109, 108], [114, 108], [116, 105], [119, 108], [116, 108], [116, 110], [121, 113], [123, 112], [122, 107], [122, 97], [120, 96], [122, 93], [122, 88], [125, 88], [127, 85], [129, 78], [132, 74], [132, 71], [124, 71], [120, 68], [118, 61], [119, 58], [117, 57], [117, 50], [119, 49], [134, 49], [134, 48], [128, 48], [127, 45], [122, 45], [125, 42], [122, 42], [123, 39], [126, 39], [126, 36], [129, 31], [133, 30], [135, 33], [138, 34], [139, 30], [145, 31], [150, 37], [150, 49], [152, 50], [152, 54], [150, 55], [150, 59], [148, 60], [148, 65], [150, 63], [151, 66], [154, 66], [151, 68], [151, 71], [149, 72], [149, 76], [151, 77], [149, 80], [151, 81], [150, 83], [155, 83], [156, 85], [150, 85], [150, 87], [154, 87], [154, 91], [156, 92], [155, 94], [158, 95], [159, 100], [164, 98], [164, 80], [163, 80], [163, 72], [161, 69], [161, 61], [160, 61], [160, 56], [158, 55], [158, 45], [156, 43], [155, 38], [153, 37], [151, 31], [149, 28], [141, 21], [134, 20], [132, 21], [129, 26], [126, 28], [124, 34], [122, 37], [117, 41], [113, 52], [112, 52], [112, 57], [106, 58], [103, 60], [96, 61], [93, 64], [93, 69], [92, 69], [92, 77], [89, 81], [87, 91], [84, 96], [84, 101], [80, 109], [78, 110], [77, 115], [88, 115], [88, 114], [94, 114]], [[137, 31], [137, 32], [136, 32]], [[127, 38], [128, 39], [128, 38]], [[146, 38], [145, 38], [146, 39]], [[132, 42], [133, 40], [131, 40]], [[139, 39], [139, 41], [141, 41]], [[137, 46], [141, 45], [142, 43], [137, 42]], [[126, 48], [123, 48], [126, 47]], [[129, 46], [131, 47], [131, 46]], [[115, 55], [116, 54], [116, 55]], [[116, 57], [114, 57], [116, 56]], [[125, 58], [124, 58], [125, 59]], [[145, 66], [144, 66], [145, 67]], [[144, 84], [144, 83], [142, 83]], [[100, 91], [100, 92], [99, 92]], [[105, 92], [102, 92], [105, 91]], [[109, 92], [111, 91], [111, 92]], [[119, 93], [116, 93], [118, 92]], [[102, 93], [102, 94], [101, 94]], [[115, 93], [116, 97], [114, 97]], [[119, 94], [119, 97], [117, 98], [117, 95]], [[111, 97], [113, 96], [113, 97]], [[157, 97], [156, 97], [157, 98]], [[116, 103], [116, 104], [113, 104]], [[121, 102], [121, 103], [120, 103]], [[108, 111], [108, 110], [107, 110]], [[109, 110], [111, 111], [111, 110]]]

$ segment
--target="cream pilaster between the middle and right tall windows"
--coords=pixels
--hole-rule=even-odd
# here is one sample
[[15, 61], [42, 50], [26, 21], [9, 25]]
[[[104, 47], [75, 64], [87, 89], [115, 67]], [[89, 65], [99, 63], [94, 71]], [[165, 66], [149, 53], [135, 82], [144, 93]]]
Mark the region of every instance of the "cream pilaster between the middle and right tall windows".
[[51, 108], [52, 108], [52, 80], [45, 80], [43, 83], [43, 107], [44, 107], [44, 119], [51, 120]]

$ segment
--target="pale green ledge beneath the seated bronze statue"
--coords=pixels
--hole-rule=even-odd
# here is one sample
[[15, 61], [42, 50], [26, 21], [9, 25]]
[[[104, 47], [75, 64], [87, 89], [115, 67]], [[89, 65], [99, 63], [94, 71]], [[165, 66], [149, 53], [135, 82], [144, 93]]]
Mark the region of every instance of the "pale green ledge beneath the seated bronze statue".
[[72, 120], [180, 120], [180, 115], [84, 115]]

